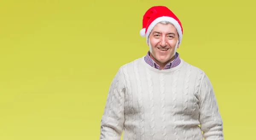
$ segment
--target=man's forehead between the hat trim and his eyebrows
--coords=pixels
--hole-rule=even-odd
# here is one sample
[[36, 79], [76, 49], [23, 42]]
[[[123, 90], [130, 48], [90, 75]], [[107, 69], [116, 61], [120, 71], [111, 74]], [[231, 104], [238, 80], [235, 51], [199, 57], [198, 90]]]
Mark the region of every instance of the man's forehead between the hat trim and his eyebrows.
[[175, 28], [175, 26], [173, 26], [172, 24], [168, 23], [168, 24], [163, 24], [163, 23], [157, 23], [156, 26], [154, 26], [154, 28], [152, 29], [152, 32], [153, 31], [159, 31], [159, 32], [162, 32], [162, 33], [169, 33], [169, 32], [172, 32], [172, 33], [177, 33], [177, 30]]

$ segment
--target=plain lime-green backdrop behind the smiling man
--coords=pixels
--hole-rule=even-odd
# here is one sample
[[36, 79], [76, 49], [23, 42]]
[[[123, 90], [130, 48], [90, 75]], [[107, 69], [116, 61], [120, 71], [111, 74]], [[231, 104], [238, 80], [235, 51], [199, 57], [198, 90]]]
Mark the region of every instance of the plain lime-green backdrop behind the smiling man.
[[253, 0], [3, 0], [0, 140], [98, 140], [120, 66], [145, 55], [142, 17], [169, 7], [183, 25], [177, 52], [204, 70], [225, 140], [254, 140]]

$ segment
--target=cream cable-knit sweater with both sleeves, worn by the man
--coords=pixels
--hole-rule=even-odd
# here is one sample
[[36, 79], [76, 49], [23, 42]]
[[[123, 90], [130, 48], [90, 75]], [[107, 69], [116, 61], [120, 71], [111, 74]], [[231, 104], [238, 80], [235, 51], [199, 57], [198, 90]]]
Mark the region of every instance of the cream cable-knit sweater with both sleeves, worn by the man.
[[175, 68], [159, 70], [144, 57], [120, 67], [113, 78], [100, 140], [120, 140], [123, 130], [123, 140], [224, 140], [204, 71], [183, 59]]

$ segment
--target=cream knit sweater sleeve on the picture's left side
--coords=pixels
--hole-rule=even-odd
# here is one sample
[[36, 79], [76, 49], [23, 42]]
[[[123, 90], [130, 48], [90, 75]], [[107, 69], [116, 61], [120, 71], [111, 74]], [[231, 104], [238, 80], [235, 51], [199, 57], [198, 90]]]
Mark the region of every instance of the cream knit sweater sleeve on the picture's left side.
[[101, 119], [99, 140], [120, 140], [124, 126], [125, 85], [120, 69], [109, 87], [104, 113]]

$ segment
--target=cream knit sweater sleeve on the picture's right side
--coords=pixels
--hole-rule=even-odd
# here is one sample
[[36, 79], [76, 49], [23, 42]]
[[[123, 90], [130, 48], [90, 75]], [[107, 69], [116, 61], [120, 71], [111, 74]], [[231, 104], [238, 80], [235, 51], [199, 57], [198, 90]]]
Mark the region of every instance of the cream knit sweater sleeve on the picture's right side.
[[212, 84], [204, 74], [199, 96], [199, 121], [205, 140], [224, 140], [223, 122], [219, 113]]

